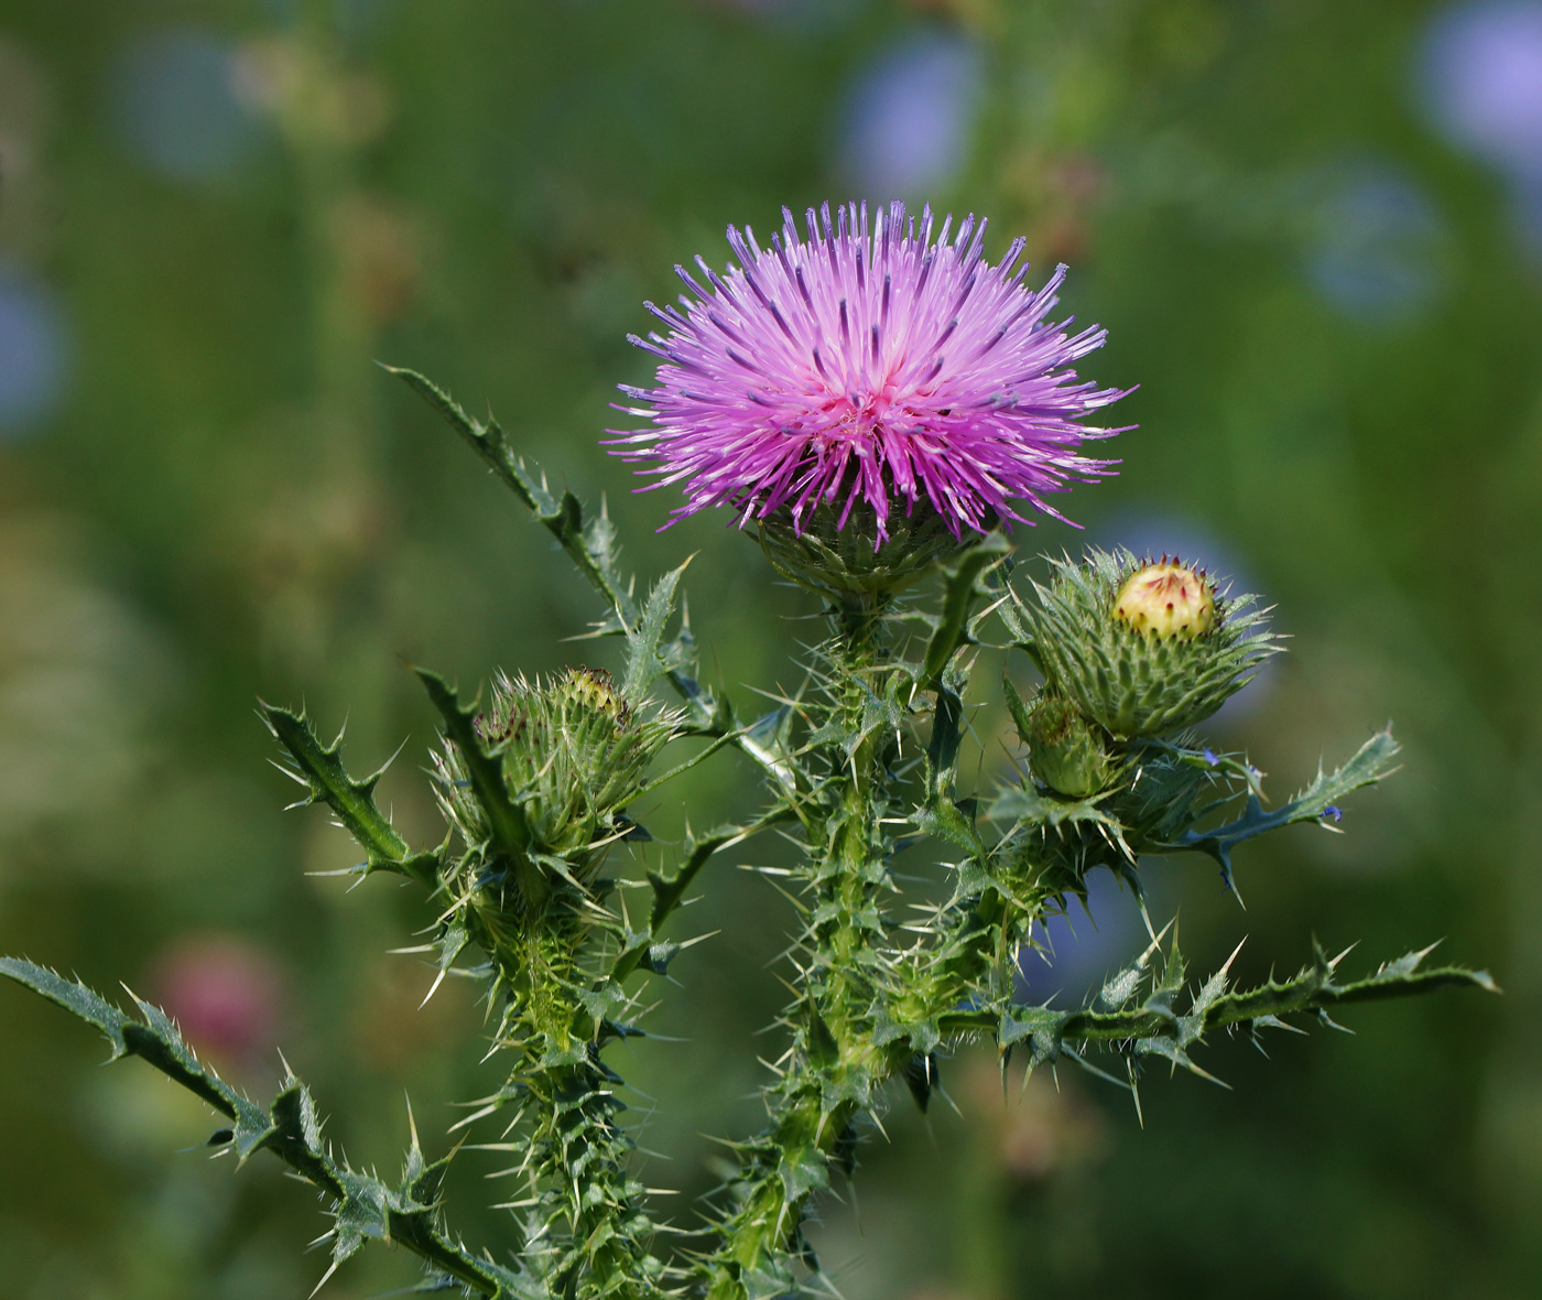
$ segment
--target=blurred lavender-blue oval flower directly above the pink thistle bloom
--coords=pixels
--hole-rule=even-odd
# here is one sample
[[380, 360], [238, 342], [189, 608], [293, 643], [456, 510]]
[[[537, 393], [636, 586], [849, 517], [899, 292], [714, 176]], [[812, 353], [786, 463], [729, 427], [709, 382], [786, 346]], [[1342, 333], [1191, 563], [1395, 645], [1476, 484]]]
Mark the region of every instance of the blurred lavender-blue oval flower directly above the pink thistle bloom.
[[840, 111], [836, 165], [873, 200], [928, 197], [968, 159], [984, 63], [967, 39], [936, 31], [880, 51]]

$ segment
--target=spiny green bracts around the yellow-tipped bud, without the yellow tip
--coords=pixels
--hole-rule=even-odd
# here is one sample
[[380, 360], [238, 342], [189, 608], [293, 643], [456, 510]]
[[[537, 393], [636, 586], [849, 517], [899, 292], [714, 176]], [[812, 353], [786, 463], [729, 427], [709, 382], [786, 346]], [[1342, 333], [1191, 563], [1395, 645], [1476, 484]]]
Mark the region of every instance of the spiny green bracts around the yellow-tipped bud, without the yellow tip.
[[1203, 722], [1280, 649], [1251, 595], [1220, 595], [1207, 632], [1164, 638], [1113, 617], [1119, 589], [1149, 561], [1092, 547], [1081, 564], [1050, 563], [1050, 584], [1033, 584], [1036, 600], [1015, 597], [1032, 634], [1024, 649], [1052, 686], [1116, 739]]

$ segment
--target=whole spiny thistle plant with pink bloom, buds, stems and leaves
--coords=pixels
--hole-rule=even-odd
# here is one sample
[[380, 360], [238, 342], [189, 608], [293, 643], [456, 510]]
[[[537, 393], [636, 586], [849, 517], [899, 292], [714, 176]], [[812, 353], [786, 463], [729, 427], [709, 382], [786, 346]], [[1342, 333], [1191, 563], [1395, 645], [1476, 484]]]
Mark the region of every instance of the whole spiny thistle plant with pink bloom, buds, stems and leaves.
[[[1428, 950], [1351, 979], [1315, 947], [1289, 979], [1234, 987], [1227, 962], [1194, 981], [1177, 941], [1153, 933], [1084, 1005], [1019, 1001], [1021, 955], [1049, 914], [1086, 898], [1089, 873], [1115, 873], [1143, 914], [1149, 856], [1200, 854], [1229, 885], [1243, 842], [1335, 819], [1397, 746], [1372, 736], [1268, 808], [1257, 770], [1194, 729], [1280, 649], [1254, 598], [1124, 551], [1050, 560], [1042, 581], [1013, 567], [1015, 524], [1055, 515], [1050, 493], [1112, 470], [1082, 444], [1119, 430], [1086, 421], [1123, 392], [1073, 369], [1101, 330], [1050, 322], [1064, 268], [1030, 290], [1022, 242], [992, 265], [984, 228], [971, 217], [953, 234], [894, 205], [871, 224], [865, 208], [811, 211], [802, 233], [788, 216], [769, 248], [731, 230], [737, 265], [682, 271], [683, 310], [654, 308], [663, 332], [635, 339], [658, 358], [657, 382], [625, 390], [648, 426], [614, 433], [612, 450], [655, 486], [678, 484], [677, 515], [729, 509], [823, 608], [806, 685], [759, 716], [699, 675], [677, 614], [685, 566], [641, 595], [603, 509], [554, 493], [495, 421], [393, 372], [550, 530], [595, 589], [595, 632], [623, 648], [614, 677], [498, 675], [481, 702], [416, 669], [443, 720], [432, 779], [446, 836], [429, 847], [409, 845], [376, 805], [379, 773], [350, 774], [302, 712], [262, 709], [301, 803], [325, 805], [356, 840], [356, 874], [421, 887], [438, 914], [439, 978], [484, 987], [506, 1081], [463, 1126], [523, 1183], [506, 1241], [469, 1246], [449, 1228], [441, 1180], [458, 1147], [430, 1161], [415, 1132], [399, 1181], [364, 1174], [322, 1140], [293, 1073], [261, 1106], [157, 1009], [126, 1015], [26, 961], [0, 970], [94, 1024], [114, 1056], [140, 1056], [202, 1098], [224, 1116], [214, 1146], [239, 1161], [271, 1152], [319, 1187], [332, 1269], [373, 1240], [421, 1257], [421, 1289], [520, 1300], [816, 1288], [805, 1224], [819, 1200], [854, 1177], [860, 1138], [896, 1092], [925, 1107], [970, 1042], [992, 1044], [1004, 1070], [1067, 1061], [1136, 1090], [1152, 1063], [1203, 1075], [1194, 1056], [1215, 1030], [1257, 1036], [1289, 1018], [1331, 1022], [1352, 1002], [1493, 988], [1486, 973], [1426, 965]], [[1024, 699], [1002, 675], [1021, 751], [968, 788], [965, 691], [988, 655], [1042, 682]], [[669, 766], [683, 737], [708, 743]], [[631, 811], [725, 749], [757, 768], [760, 813], [637, 865], [629, 845], [648, 833]], [[732, 1140], [734, 1170], [703, 1212], [666, 1221], [637, 1175], [609, 1049], [646, 1035], [645, 1002], [666, 996], [652, 981], [691, 939], [675, 913], [711, 888], [712, 859], [773, 827], [796, 845], [779, 870], [799, 928], [766, 1121]], [[922, 842], [944, 860], [928, 868], [930, 901], [907, 908], [894, 864]]]

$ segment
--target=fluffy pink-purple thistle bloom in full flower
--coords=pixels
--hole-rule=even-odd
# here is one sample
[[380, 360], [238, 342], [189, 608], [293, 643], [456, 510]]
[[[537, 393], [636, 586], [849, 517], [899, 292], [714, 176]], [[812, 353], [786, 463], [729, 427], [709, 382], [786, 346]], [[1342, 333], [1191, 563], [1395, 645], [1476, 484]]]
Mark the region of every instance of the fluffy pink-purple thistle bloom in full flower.
[[[1124, 396], [1076, 378], [1072, 364], [1103, 345], [1101, 328], [1045, 322], [1066, 267], [1038, 291], [1018, 267], [1022, 239], [996, 265], [981, 258], [985, 222], [951, 217], [919, 228], [904, 204], [810, 208], [762, 250], [729, 227], [737, 267], [706, 284], [683, 267], [680, 307], [648, 310], [666, 325], [632, 342], [658, 358], [657, 387], [623, 392], [652, 421], [615, 430], [617, 453], [645, 461], [651, 487], [680, 483], [675, 517], [731, 506], [740, 526], [786, 509], [796, 530], [830, 504], [845, 527], [859, 504], [877, 541], [890, 515], [930, 507], [954, 537], [1024, 521], [1013, 503], [1061, 518], [1045, 501], [1109, 473], [1081, 453], [1119, 429], [1082, 424]], [[936, 236], [933, 239], [933, 234]]]

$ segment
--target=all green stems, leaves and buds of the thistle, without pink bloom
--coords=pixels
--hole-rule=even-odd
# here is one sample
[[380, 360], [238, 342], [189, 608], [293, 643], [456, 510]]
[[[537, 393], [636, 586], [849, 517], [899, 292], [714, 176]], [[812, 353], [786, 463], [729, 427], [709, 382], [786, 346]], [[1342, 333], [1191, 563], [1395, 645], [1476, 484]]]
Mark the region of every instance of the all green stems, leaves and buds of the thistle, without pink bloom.
[[[680, 569], [646, 601], [634, 598], [603, 512], [586, 517], [571, 493], [555, 498], [497, 424], [472, 421], [429, 381], [407, 378], [550, 529], [606, 601], [598, 631], [628, 645], [620, 686], [583, 668], [547, 682], [500, 679], [486, 714], [419, 672], [446, 725], [438, 794], [456, 834], [438, 848], [412, 850], [376, 807], [381, 773], [352, 777], [339, 743], [321, 743], [304, 714], [264, 708], [290, 774], [307, 790], [301, 802], [330, 807], [364, 850], [356, 874], [396, 873], [435, 898], [441, 913], [430, 947], [441, 976], [467, 950], [484, 955], [463, 973], [486, 979], [501, 1015], [495, 1046], [512, 1053], [513, 1067], [470, 1120], [513, 1116], [503, 1141], [490, 1144], [517, 1157], [507, 1172], [523, 1195], [510, 1207], [526, 1215], [513, 1258], [504, 1265], [473, 1252], [444, 1223], [441, 1180], [453, 1152], [429, 1164], [413, 1130], [398, 1184], [361, 1174], [322, 1137], [316, 1104], [293, 1075], [270, 1106], [258, 1106], [199, 1063], [156, 1007], [140, 1002], [134, 1018], [46, 967], [0, 958], [0, 975], [96, 1026], [114, 1058], [142, 1058], [228, 1120], [214, 1144], [228, 1144], [241, 1161], [268, 1150], [316, 1184], [335, 1220], [328, 1277], [373, 1240], [419, 1255], [424, 1291], [460, 1285], [492, 1300], [786, 1297], [808, 1289], [796, 1275], [800, 1266], [817, 1269], [803, 1237], [808, 1204], [830, 1186], [833, 1167], [851, 1170], [862, 1115], [899, 1075], [925, 1106], [934, 1055], [950, 1044], [990, 1039], [1002, 1053], [1022, 1050], [1030, 1067], [1066, 1056], [1090, 1067], [1086, 1052], [1101, 1047], [1123, 1061], [1133, 1086], [1147, 1058], [1203, 1073], [1190, 1053], [1223, 1027], [1257, 1035], [1286, 1016], [1326, 1019], [1352, 1002], [1494, 987], [1483, 972], [1425, 965], [1429, 950], [1346, 981], [1337, 973], [1342, 958], [1317, 950], [1295, 976], [1255, 988], [1232, 987], [1227, 961], [1183, 1005], [1177, 942], [1160, 958], [1153, 942], [1086, 1005], [1015, 1004], [1016, 956], [1032, 942], [1035, 919], [1084, 894], [1092, 868], [1138, 884], [1144, 854], [1203, 854], [1232, 885], [1238, 845], [1288, 825], [1337, 822], [1340, 802], [1389, 770], [1397, 753], [1389, 733], [1266, 808], [1246, 759], [1215, 754], [1190, 731], [1272, 652], [1261, 614], [1217, 595], [1203, 572], [1129, 552], [1052, 561], [1049, 586], [1033, 584], [1033, 598], [1022, 600], [993, 574], [1007, 555], [996, 537], [948, 563], [928, 555], [944, 578], [939, 612], [904, 615], [908, 626], [919, 620], [931, 629], [919, 663], [887, 640], [901, 626], [888, 595], [860, 594], [867, 588], [848, 571], [808, 583], [834, 600], [834, 631], [816, 651], [817, 694], [802, 709], [810, 731], [796, 746], [794, 708], [740, 723], [726, 697], [695, 679], [689, 626], [665, 638]], [[799, 554], [806, 560], [813, 551]], [[836, 558], [868, 564], [873, 557], [848, 544]], [[884, 584], [913, 577], [910, 569], [882, 574]], [[1183, 603], [1195, 595], [1198, 603]], [[1033, 702], [1005, 683], [1027, 768], [998, 782], [981, 808], [954, 791], [964, 660], [979, 643], [970, 614], [976, 597], [988, 597], [979, 617], [996, 617], [1008, 645], [1045, 679]], [[658, 680], [675, 688], [682, 709], [648, 703]], [[928, 743], [907, 740], [901, 754], [901, 734], [928, 695]], [[683, 734], [714, 737], [695, 760], [736, 745], [763, 770], [774, 797], [745, 825], [688, 834], [672, 874], [649, 871], [646, 885], [634, 882], [651, 893], [651, 905], [629, 914], [600, 868], [608, 850], [637, 830], [626, 808], [689, 765], [646, 780], [663, 746]], [[632, 1024], [638, 995], [626, 981], [666, 972], [680, 945], [660, 941], [660, 925], [708, 859], [794, 819], [805, 921], [796, 996], [783, 1018], [791, 1044], [768, 1090], [769, 1124], [739, 1146], [739, 1177], [688, 1275], [686, 1265], [654, 1254], [663, 1229], [628, 1172], [620, 1079], [601, 1053], [640, 1032]], [[951, 898], [899, 927], [882, 899], [899, 847], [888, 827], [904, 822], [956, 860]], [[998, 828], [988, 842], [982, 825]]]

